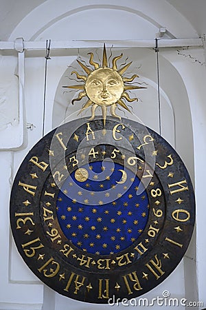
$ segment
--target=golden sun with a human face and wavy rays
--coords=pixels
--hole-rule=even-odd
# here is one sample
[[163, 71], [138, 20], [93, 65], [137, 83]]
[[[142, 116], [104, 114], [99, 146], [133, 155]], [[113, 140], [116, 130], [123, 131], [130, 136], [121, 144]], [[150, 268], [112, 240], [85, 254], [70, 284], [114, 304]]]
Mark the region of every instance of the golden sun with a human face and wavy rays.
[[88, 54], [90, 54], [89, 63], [93, 65], [94, 70], [91, 70], [91, 68], [87, 67], [87, 65], [84, 65], [82, 62], [77, 60], [84, 72], [87, 73], [87, 76], [80, 75], [76, 71], [71, 72], [71, 74], [75, 73], [78, 79], [84, 81], [84, 84], [62, 87], [83, 90], [78, 94], [78, 98], [73, 99], [71, 103], [73, 104], [74, 101], [80, 101], [84, 96], [87, 96], [89, 100], [82, 106], [80, 113], [87, 107], [91, 107], [91, 118], [89, 118], [89, 121], [91, 121], [95, 118], [95, 110], [97, 107], [101, 107], [102, 118], [105, 126], [107, 107], [110, 106], [110, 113], [112, 116], [121, 120], [121, 117], [115, 113], [117, 104], [121, 105], [121, 107], [124, 107], [124, 109], [130, 112], [128, 106], [122, 99], [126, 99], [128, 102], [133, 102], [135, 100], [138, 101], [136, 97], [130, 98], [126, 91], [146, 87], [129, 84], [130, 82], [133, 82], [136, 77], [139, 77], [137, 74], [133, 74], [130, 78], [123, 76], [132, 61], [117, 70], [117, 60], [121, 59], [123, 54], [113, 58], [112, 68], [108, 68], [105, 44], [102, 56], [102, 66], [93, 61], [92, 52], [89, 52]]

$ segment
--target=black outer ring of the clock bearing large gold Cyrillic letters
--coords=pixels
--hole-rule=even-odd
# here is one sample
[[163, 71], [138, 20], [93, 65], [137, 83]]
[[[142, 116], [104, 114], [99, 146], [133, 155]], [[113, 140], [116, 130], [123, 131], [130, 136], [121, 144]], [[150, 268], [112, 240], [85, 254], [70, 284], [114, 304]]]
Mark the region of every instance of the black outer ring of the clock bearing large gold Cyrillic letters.
[[[30, 162], [30, 158], [32, 158], [32, 156], [38, 156], [39, 163], [42, 161], [49, 163], [48, 149], [50, 149], [53, 136], [58, 133], [62, 134], [61, 137], [68, 136], [68, 134], [73, 133], [73, 128], [76, 127], [78, 128], [76, 134], [78, 134], [81, 140], [81, 138], [85, 137], [87, 122], [87, 119], [82, 118], [58, 127], [57, 130], [49, 132], [49, 134], [43, 137], [41, 141], [36, 143], [27, 154], [16, 174], [12, 187], [10, 199], [10, 223], [12, 233], [16, 242], [16, 247], [26, 264], [32, 269], [38, 278], [58, 293], [76, 300], [93, 303], [107, 303], [108, 298], [112, 298], [113, 295], [115, 295], [115, 299], [120, 298], [120, 300], [122, 300], [122, 298], [135, 298], [150, 291], [167, 278], [185, 254], [192, 237], [195, 218], [195, 201], [192, 182], [179, 155], [161, 136], [159, 136], [159, 134], [144, 127], [144, 125], [122, 118], [121, 123], [124, 124], [125, 129], [121, 130], [121, 127], [119, 127], [121, 134], [128, 139], [128, 136], [133, 132], [140, 140], [138, 141], [135, 137], [130, 141], [137, 156], [145, 158], [144, 149], [146, 149], [147, 152], [147, 145], [145, 148], [141, 147], [139, 150], [137, 150], [137, 145], [143, 143], [145, 130], [148, 130], [148, 133], [154, 139], [152, 143], [154, 143], [155, 150], [157, 150], [157, 163], [163, 167], [165, 161], [170, 161], [167, 157], [168, 155], [171, 155], [174, 161], [173, 165], [168, 165], [165, 169], [155, 165], [155, 174], [159, 179], [161, 188], [163, 188], [162, 196], [165, 199], [166, 205], [163, 227], [160, 228], [157, 237], [155, 237], [155, 247], [150, 247], [150, 243], [147, 246], [143, 238], [138, 239], [139, 242], [142, 240], [141, 244], [143, 244], [144, 247], [147, 247], [147, 251], [144, 252], [143, 248], [140, 247], [139, 249], [144, 253], [139, 254], [135, 249], [133, 249], [133, 252], [130, 249], [126, 249], [127, 252], [129, 251], [129, 260], [131, 260], [131, 262], [126, 264], [126, 266], [123, 265], [116, 269], [113, 268], [114, 270], [112, 268], [104, 268], [103, 270], [98, 269], [98, 271], [96, 271], [95, 267], [84, 267], [85, 264], [81, 267], [73, 266], [69, 264], [70, 256], [68, 262], [64, 258], [61, 260], [59, 255], [59, 245], [57, 245], [56, 242], [50, 242], [49, 244], [47, 241], [47, 234], [45, 234], [45, 231], [42, 229], [43, 225], [45, 225], [45, 221], [39, 216], [38, 211], [41, 207], [41, 195], [47, 189], [44, 185], [49, 177], [50, 169], [47, 167], [45, 172], [43, 172], [42, 169], [39, 169], [36, 165]], [[106, 130], [113, 130], [113, 127], [117, 124], [117, 121], [108, 118], [106, 121]], [[90, 127], [94, 132], [95, 130], [103, 130], [102, 120], [91, 121]], [[115, 141], [112, 142], [115, 143]], [[78, 141], [74, 141], [74, 139], [71, 138], [67, 145], [66, 156], [72, 152], [76, 152], [78, 144]], [[54, 146], [55, 152], [61, 147], [57, 139]], [[150, 154], [150, 156], [152, 156], [152, 154]], [[58, 164], [58, 156], [57, 158], [54, 158], [54, 161]], [[30, 174], [34, 174], [35, 172], [38, 175], [38, 178], [32, 180]], [[170, 172], [174, 174], [172, 178], [168, 176]], [[19, 181], [21, 181], [21, 183], [36, 186], [35, 196], [25, 192], [23, 186], [19, 186]], [[181, 188], [174, 185], [181, 181], [186, 182], [182, 184], [186, 184], [185, 186], [187, 186], [187, 190], [171, 194], [172, 190], [174, 191], [174, 189]], [[168, 185], [171, 184], [173, 184], [173, 186], [169, 187]], [[152, 189], [157, 189], [157, 184], [150, 188], [150, 192]], [[181, 203], [176, 202], [179, 196], [181, 197], [181, 200], [183, 200]], [[26, 206], [23, 202], [27, 200], [28, 197], [30, 198], [31, 205]], [[157, 198], [159, 197], [157, 196]], [[150, 207], [154, 207], [156, 210], [158, 209], [158, 206], [155, 204]], [[174, 213], [172, 217], [172, 212], [177, 209], [184, 209], [187, 211], [187, 214], [190, 212], [190, 218], [185, 222], [175, 220]], [[30, 220], [25, 221], [24, 225], [23, 220], [25, 220], [26, 216], [18, 216], [18, 214], [29, 212], [34, 213], [32, 220], [35, 225], [32, 225]], [[16, 220], [19, 218], [23, 218], [23, 220], [20, 220], [19, 222], [21, 228], [16, 229]], [[184, 217], [182, 217], [181, 220], [184, 220]], [[180, 227], [181, 230], [175, 229], [175, 227]], [[32, 234], [25, 234], [27, 229], [33, 230]], [[141, 236], [144, 236], [144, 233]], [[40, 240], [38, 240], [38, 238]], [[170, 241], [168, 241], [168, 239]], [[32, 240], [36, 241], [30, 243]], [[172, 243], [171, 240], [176, 242], [176, 245], [174, 242]], [[65, 240], [65, 242], [66, 241], [67, 240]], [[45, 245], [45, 247], [40, 247], [41, 244]], [[30, 247], [39, 248], [27, 250]], [[32, 251], [35, 252], [34, 256], [30, 255], [32, 254]], [[39, 258], [39, 254], [42, 253], [45, 254], [43, 260]], [[126, 253], [126, 251], [124, 251], [124, 253]], [[135, 253], [134, 257], [131, 256], [133, 253]], [[78, 252], [76, 254], [82, 255]], [[169, 258], [165, 256], [165, 254], [167, 254]], [[89, 256], [91, 255], [89, 254]], [[96, 261], [98, 259], [99, 257], [96, 258]], [[125, 260], [126, 258], [124, 257], [123, 261]], [[45, 265], [46, 262], [49, 262], [48, 265]], [[43, 265], [45, 265], [45, 268], [43, 268]], [[52, 267], [54, 271], [55, 269], [57, 270], [58, 267], [59, 270], [55, 276], [48, 276], [52, 274], [52, 271], [49, 271]], [[80, 284], [81, 282], [82, 285]]]

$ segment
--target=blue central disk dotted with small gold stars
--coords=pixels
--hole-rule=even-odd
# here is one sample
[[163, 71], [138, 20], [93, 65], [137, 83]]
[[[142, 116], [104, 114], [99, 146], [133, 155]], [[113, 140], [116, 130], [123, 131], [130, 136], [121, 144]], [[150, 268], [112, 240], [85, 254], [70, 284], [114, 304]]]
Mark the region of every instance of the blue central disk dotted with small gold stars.
[[58, 194], [56, 210], [62, 231], [73, 245], [91, 254], [126, 249], [146, 227], [146, 190], [137, 195], [139, 178], [118, 163], [96, 161], [81, 168], [87, 169], [87, 180], [76, 180], [73, 172]]

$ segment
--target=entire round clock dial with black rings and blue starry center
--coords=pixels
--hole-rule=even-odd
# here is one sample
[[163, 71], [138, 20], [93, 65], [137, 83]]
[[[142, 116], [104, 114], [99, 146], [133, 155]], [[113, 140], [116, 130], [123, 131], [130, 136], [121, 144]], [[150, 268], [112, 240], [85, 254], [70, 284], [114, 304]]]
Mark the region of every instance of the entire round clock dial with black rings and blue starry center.
[[27, 154], [10, 199], [19, 253], [38, 278], [76, 300], [108, 303], [150, 291], [183, 257], [194, 191], [174, 149], [122, 118], [82, 118]]

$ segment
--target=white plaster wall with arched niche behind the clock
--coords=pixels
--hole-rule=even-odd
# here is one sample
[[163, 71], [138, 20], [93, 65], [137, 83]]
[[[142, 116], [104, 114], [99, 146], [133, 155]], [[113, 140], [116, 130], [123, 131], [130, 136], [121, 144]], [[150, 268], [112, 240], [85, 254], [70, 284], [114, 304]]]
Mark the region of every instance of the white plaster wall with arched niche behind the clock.
[[[49, 8], [49, 9], [48, 9]], [[106, 23], [105, 17], [106, 16]], [[89, 23], [89, 21], [92, 21]], [[32, 11], [12, 32], [10, 39], [23, 37], [25, 40], [69, 40], [69, 39], [155, 39], [159, 27], [165, 26], [169, 37], [197, 37], [196, 32], [187, 21], [165, 1], [45, 1]], [[154, 40], [155, 45], [155, 40]], [[52, 46], [51, 46], [52, 47]], [[141, 92], [142, 103], [134, 107], [134, 113], [152, 129], [159, 131], [157, 113], [157, 68], [156, 54], [151, 49], [130, 48], [123, 51], [134, 60], [134, 68], [141, 64], [138, 74], [148, 83], [148, 90]], [[52, 54], [53, 53], [53, 54]], [[176, 148], [187, 165], [196, 187], [197, 239], [175, 271], [161, 285], [143, 297], [162, 296], [163, 290], [170, 291], [171, 297], [188, 298], [188, 300], [205, 300], [204, 288], [204, 156], [205, 156], [205, 65], [203, 49], [186, 51], [190, 57], [180, 55], [175, 49], [161, 50], [159, 53], [161, 83], [161, 118], [162, 135]], [[182, 54], [185, 54], [183, 51]], [[45, 133], [56, 127], [64, 118], [67, 99], [61, 96], [60, 81], [67, 65], [73, 63], [77, 56], [85, 56], [84, 50], [52, 51], [48, 61], [47, 96], [45, 105]], [[16, 72], [14, 61], [2, 56], [5, 67], [0, 76], [9, 75], [14, 80]], [[36, 52], [26, 54], [25, 59], [25, 123], [33, 126], [25, 132], [25, 143], [16, 151], [0, 152], [1, 165], [1, 290], [0, 309], [109, 309], [106, 305], [84, 304], [60, 296], [45, 287], [24, 264], [12, 240], [9, 229], [8, 206], [12, 179], [29, 149], [41, 138], [43, 130], [43, 92], [44, 92], [43, 54]], [[133, 70], [135, 70], [133, 68]], [[59, 84], [59, 86], [58, 86]], [[58, 103], [61, 101], [61, 105]], [[18, 100], [8, 103], [6, 117]], [[145, 108], [144, 108], [145, 107]], [[0, 107], [1, 109], [1, 107]], [[75, 107], [74, 107], [75, 109]], [[75, 110], [74, 110], [75, 112]], [[89, 114], [88, 114], [89, 115]], [[126, 114], [127, 117], [131, 117]], [[74, 116], [75, 117], [75, 114]], [[133, 116], [132, 116], [133, 117]], [[0, 136], [4, 136], [3, 131]], [[194, 144], [193, 144], [194, 143]], [[2, 189], [2, 187], [1, 187]], [[197, 262], [196, 262], [197, 249]], [[197, 269], [196, 269], [197, 268]], [[197, 272], [196, 272], [197, 271]], [[197, 283], [196, 283], [197, 280]], [[113, 307], [124, 309], [125, 307]], [[129, 307], [128, 307], [129, 308]], [[159, 309], [153, 307], [152, 309]], [[162, 307], [161, 307], [162, 309]], [[175, 309], [175, 307], [173, 308]], [[178, 307], [177, 309], [183, 309]], [[190, 307], [192, 309], [192, 307]]]

